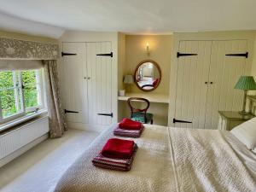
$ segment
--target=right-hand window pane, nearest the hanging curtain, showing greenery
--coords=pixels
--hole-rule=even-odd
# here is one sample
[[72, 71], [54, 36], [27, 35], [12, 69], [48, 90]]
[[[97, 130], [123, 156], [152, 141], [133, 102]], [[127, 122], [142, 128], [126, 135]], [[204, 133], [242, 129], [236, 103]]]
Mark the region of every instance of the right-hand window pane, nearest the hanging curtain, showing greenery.
[[22, 81], [24, 85], [25, 107], [32, 108], [40, 105], [38, 71], [22, 71]]

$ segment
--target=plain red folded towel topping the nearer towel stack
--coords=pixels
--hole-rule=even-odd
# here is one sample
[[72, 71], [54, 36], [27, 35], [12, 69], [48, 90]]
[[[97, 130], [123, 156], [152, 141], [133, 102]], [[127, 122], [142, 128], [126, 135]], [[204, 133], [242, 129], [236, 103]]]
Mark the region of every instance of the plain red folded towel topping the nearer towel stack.
[[133, 152], [133, 146], [134, 141], [111, 138], [102, 148], [102, 155], [113, 159], [129, 159]]

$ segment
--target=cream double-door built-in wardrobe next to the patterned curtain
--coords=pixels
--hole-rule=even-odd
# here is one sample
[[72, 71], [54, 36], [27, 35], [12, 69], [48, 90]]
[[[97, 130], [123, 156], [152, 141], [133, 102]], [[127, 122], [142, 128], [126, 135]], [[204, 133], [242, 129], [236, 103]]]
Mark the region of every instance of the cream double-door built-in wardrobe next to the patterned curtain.
[[101, 39], [72, 40], [61, 41], [61, 101], [67, 124], [72, 128], [101, 131], [117, 117], [113, 101], [117, 96], [113, 85], [116, 75], [113, 58], [117, 56], [113, 53], [114, 43]]

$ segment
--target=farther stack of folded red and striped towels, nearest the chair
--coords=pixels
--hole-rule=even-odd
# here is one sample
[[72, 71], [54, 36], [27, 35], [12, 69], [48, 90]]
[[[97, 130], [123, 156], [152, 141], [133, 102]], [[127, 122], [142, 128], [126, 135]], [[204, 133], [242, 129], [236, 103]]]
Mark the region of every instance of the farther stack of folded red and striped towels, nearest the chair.
[[120, 137], [140, 137], [142, 132], [142, 123], [125, 118], [115, 128], [113, 135]]

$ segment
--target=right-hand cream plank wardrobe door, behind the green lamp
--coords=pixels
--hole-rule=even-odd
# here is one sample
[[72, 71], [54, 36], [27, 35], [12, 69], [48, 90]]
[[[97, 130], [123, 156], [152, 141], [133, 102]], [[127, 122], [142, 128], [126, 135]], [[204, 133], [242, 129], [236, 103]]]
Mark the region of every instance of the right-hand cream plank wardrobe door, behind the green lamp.
[[250, 68], [245, 56], [227, 54], [245, 54], [247, 40], [213, 41], [207, 94], [206, 129], [217, 129], [218, 110], [241, 110], [242, 91], [234, 86]]

